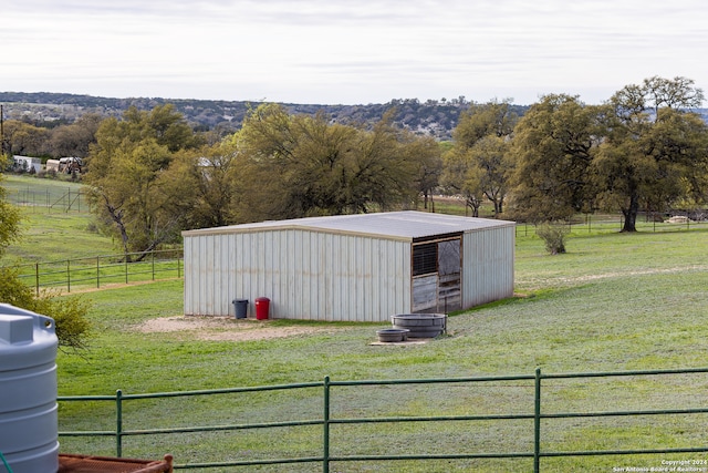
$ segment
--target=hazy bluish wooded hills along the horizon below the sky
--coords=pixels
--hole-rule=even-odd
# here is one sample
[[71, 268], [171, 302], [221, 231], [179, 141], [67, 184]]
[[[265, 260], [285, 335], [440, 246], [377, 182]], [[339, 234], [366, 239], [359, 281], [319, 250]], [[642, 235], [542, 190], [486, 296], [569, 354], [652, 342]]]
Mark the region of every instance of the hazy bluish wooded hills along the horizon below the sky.
[[[249, 107], [258, 106], [253, 102], [230, 102], [191, 99], [108, 99], [92, 95], [64, 93], [24, 93], [0, 92], [0, 103], [4, 107], [6, 120], [24, 120], [44, 125], [72, 123], [84, 113], [97, 113], [104, 116], [121, 116], [131, 105], [139, 110], [152, 110], [156, 105], [171, 103], [198, 130], [218, 130], [232, 132], [241, 126]], [[417, 99], [392, 100], [384, 104], [367, 105], [315, 105], [283, 103], [291, 113], [312, 114], [322, 111], [339, 123], [375, 123], [386, 111], [395, 107], [395, 122], [420, 135], [430, 135], [437, 140], [450, 140], [460, 112], [470, 102], [465, 97], [452, 100]], [[523, 114], [525, 106], [518, 105]]]

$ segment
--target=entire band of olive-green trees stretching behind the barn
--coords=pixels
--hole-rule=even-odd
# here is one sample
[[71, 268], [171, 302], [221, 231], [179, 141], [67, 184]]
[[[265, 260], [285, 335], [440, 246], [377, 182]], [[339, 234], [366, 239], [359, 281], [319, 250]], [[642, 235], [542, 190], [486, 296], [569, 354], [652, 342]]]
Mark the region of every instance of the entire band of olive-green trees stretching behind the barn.
[[187, 228], [418, 208], [433, 193], [462, 196], [475, 216], [490, 203], [497, 217], [532, 223], [622, 212], [635, 232], [641, 209], [705, 204], [702, 101], [693, 80], [654, 76], [601, 105], [566, 94], [523, 111], [471, 102], [450, 142], [400, 127], [394, 110], [344, 124], [279, 104], [249, 109], [226, 136], [195, 130], [171, 104], [87, 115], [62, 135], [75, 137], [65, 141], [85, 157], [92, 208], [126, 255]]

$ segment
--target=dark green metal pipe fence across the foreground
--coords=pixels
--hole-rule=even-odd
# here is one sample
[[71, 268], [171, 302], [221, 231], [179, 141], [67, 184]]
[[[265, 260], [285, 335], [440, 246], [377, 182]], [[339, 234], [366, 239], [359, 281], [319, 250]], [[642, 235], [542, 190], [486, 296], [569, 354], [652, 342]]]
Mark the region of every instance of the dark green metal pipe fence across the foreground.
[[[106, 401], [115, 403], [115, 430], [105, 431], [80, 431], [59, 432], [60, 436], [113, 436], [116, 442], [116, 455], [123, 455], [123, 440], [132, 435], [157, 435], [157, 434], [179, 434], [187, 432], [219, 432], [240, 431], [250, 429], [272, 429], [272, 428], [294, 428], [304, 425], [315, 425], [322, 428], [321, 455], [285, 457], [285, 459], [259, 459], [243, 461], [227, 461], [214, 463], [189, 463], [175, 465], [178, 470], [226, 467], [226, 466], [249, 466], [249, 465], [273, 465], [294, 463], [319, 463], [322, 471], [327, 473], [330, 464], [333, 462], [372, 462], [372, 461], [417, 461], [417, 460], [467, 460], [467, 459], [528, 459], [533, 462], [533, 471], [540, 472], [542, 460], [561, 456], [596, 456], [596, 455], [650, 455], [650, 454], [674, 454], [674, 453], [696, 453], [708, 452], [708, 443], [686, 448], [660, 448], [656, 445], [647, 449], [626, 450], [570, 450], [553, 451], [543, 449], [543, 422], [560, 419], [582, 419], [582, 418], [611, 418], [611, 417], [652, 417], [652, 415], [690, 415], [708, 413], [708, 405], [698, 408], [676, 408], [676, 409], [641, 409], [641, 410], [617, 410], [617, 411], [593, 411], [593, 412], [548, 412], [543, 409], [542, 397], [544, 381], [562, 379], [597, 379], [597, 378], [622, 378], [622, 377], [655, 377], [668, 374], [690, 374], [708, 373], [708, 368], [698, 369], [675, 369], [675, 370], [642, 370], [642, 371], [618, 371], [618, 372], [586, 372], [586, 373], [556, 373], [544, 374], [541, 369], [537, 369], [534, 374], [522, 376], [490, 376], [472, 378], [447, 378], [447, 379], [409, 379], [409, 380], [363, 380], [363, 381], [334, 381], [325, 377], [323, 381], [305, 382], [294, 384], [232, 388], [200, 391], [164, 392], [152, 394], [124, 394], [121, 390], [116, 395], [73, 395], [59, 397], [59, 402], [81, 402], [81, 401]], [[394, 384], [475, 384], [489, 382], [516, 381], [524, 387], [533, 389], [533, 402], [529, 405], [529, 411], [511, 414], [475, 414], [475, 415], [435, 415], [435, 417], [377, 417], [377, 418], [336, 418], [331, 414], [332, 398], [337, 388], [341, 387], [366, 387], [366, 385], [394, 385]], [[285, 422], [262, 422], [229, 425], [206, 425], [186, 426], [169, 429], [145, 429], [126, 430], [123, 428], [124, 403], [157, 398], [177, 397], [199, 397], [225, 393], [244, 393], [259, 391], [284, 391], [298, 389], [322, 389], [322, 417], [319, 419], [296, 420]], [[528, 420], [533, 422], [533, 448], [528, 451], [518, 452], [459, 452], [447, 454], [399, 454], [399, 455], [334, 455], [332, 451], [332, 436], [330, 428], [336, 424], [374, 424], [374, 423], [405, 423], [405, 422], [456, 422], [456, 421], [492, 421], [502, 422], [509, 420]], [[702, 438], [702, 435], [701, 435]], [[178, 459], [176, 459], [178, 460]]]

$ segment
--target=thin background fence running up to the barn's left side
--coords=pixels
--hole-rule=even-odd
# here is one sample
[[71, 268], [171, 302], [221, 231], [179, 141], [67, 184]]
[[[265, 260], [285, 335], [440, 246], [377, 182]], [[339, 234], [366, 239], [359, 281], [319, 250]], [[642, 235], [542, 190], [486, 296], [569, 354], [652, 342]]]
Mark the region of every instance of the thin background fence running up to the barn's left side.
[[[184, 276], [183, 249], [100, 255], [86, 258], [18, 265], [19, 277], [39, 294], [42, 288], [101, 288], [108, 284], [128, 284], [144, 280], [180, 278]], [[128, 258], [129, 257], [129, 258]], [[128, 263], [128, 259], [133, 259]]]

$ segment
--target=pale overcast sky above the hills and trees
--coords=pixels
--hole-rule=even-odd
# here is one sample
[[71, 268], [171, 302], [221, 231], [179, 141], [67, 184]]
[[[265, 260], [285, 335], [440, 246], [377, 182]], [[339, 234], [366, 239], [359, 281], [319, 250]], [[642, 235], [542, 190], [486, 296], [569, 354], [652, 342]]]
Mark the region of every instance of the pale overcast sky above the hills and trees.
[[708, 88], [705, 0], [2, 0], [0, 91], [372, 104], [658, 75]]

